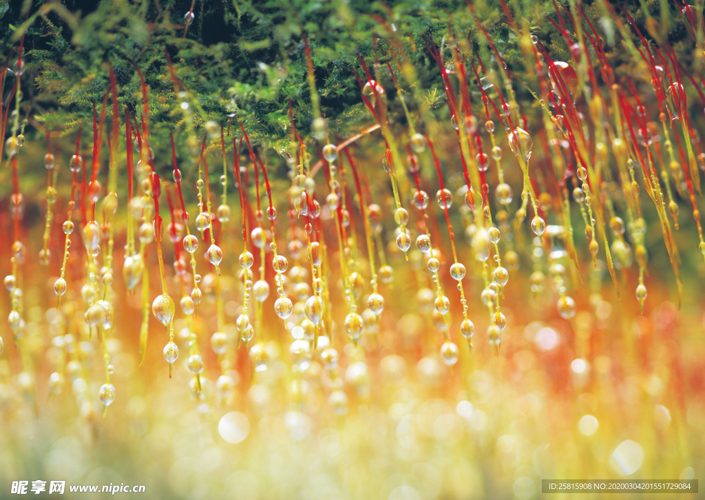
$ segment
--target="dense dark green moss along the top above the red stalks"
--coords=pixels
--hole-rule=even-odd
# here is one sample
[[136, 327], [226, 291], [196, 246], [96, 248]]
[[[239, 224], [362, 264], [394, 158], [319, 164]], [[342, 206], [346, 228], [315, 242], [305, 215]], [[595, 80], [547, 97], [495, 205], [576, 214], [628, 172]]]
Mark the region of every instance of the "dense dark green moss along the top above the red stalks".
[[[551, 13], [555, 17], [551, 1], [515, 1], [510, 7], [526, 27], [536, 28], [556, 58], [570, 60], [560, 35], [544, 20]], [[499, 2], [480, 1], [474, 8], [503, 50], [505, 61], [516, 65], [517, 75], [532, 83], [534, 75], [525, 74], [516, 44], [504, 43], [515, 36], [503, 24]], [[186, 28], [185, 14], [191, 9], [193, 20]], [[630, 10], [637, 23], [644, 22], [638, 6]], [[588, 6], [586, 12], [599, 22], [597, 7]], [[676, 13], [670, 12], [670, 23], [675, 25], [669, 27], [670, 36], [682, 52], [692, 45], [678, 43], [687, 33]], [[135, 109], [140, 89], [132, 62], [147, 78], [153, 134], [164, 139], [168, 128], [185, 126], [170, 119], [179, 99], [169, 76], [167, 53], [179, 80], [200, 100], [195, 126], [208, 120], [221, 123], [237, 114], [257, 142], [274, 143], [288, 136], [289, 102], [300, 130], [308, 131], [313, 118], [304, 34], [312, 46], [321, 113], [329, 120], [329, 130], [343, 136], [355, 130], [357, 118], [364, 113], [353, 73], [353, 69], [361, 73], [358, 52], [371, 63], [377, 42], [379, 73], [387, 80], [384, 61], [393, 47], [415, 68], [427, 95], [426, 102], [413, 105], [434, 106], [443, 104], [441, 79], [423, 37], [441, 44], [450, 28], [460, 39], [468, 37], [474, 47], [486, 50], [477, 30], [470, 30], [471, 13], [462, 2], [233, 0], [197, 1], [192, 6], [190, 0], [69, 0], [63, 4], [4, 0], [0, 47], [11, 61], [16, 59], [25, 17], [26, 74], [31, 77], [23, 84], [25, 102], [31, 102], [33, 117], [42, 128], [62, 133], [81, 123], [90, 127], [92, 104], [102, 101], [109, 85], [109, 65], [117, 76], [121, 103]], [[608, 55], [619, 66], [620, 55]], [[627, 66], [623, 71], [631, 70]], [[393, 88], [391, 80], [388, 87]], [[7, 93], [11, 85], [6, 83], [5, 88]], [[530, 97], [521, 89], [517, 92], [520, 98]], [[390, 97], [393, 100], [393, 92]], [[402, 116], [400, 107], [391, 106], [392, 121]]]

